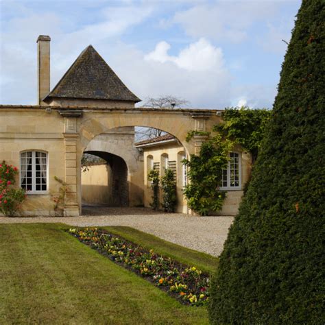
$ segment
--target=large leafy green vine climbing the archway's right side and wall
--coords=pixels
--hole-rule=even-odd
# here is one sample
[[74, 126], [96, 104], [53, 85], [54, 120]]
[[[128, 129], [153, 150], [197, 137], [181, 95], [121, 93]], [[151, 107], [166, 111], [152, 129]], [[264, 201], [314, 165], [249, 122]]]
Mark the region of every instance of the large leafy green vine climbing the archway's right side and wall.
[[[228, 164], [228, 154], [235, 144], [252, 154], [252, 162], [257, 158], [265, 127], [272, 115], [270, 110], [252, 110], [250, 108], [226, 108], [224, 122], [215, 125], [215, 136], [202, 144], [198, 155], [191, 160], [183, 160], [189, 167], [189, 184], [184, 195], [191, 209], [200, 215], [221, 210], [226, 192], [220, 191], [222, 169]], [[208, 135], [208, 132], [190, 131], [186, 141], [195, 135]]]

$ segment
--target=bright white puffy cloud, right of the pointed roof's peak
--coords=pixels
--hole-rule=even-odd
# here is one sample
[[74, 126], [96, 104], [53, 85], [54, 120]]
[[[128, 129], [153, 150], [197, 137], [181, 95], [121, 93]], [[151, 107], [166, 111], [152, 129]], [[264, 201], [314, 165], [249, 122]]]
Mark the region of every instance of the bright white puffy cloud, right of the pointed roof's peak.
[[219, 47], [214, 47], [208, 40], [200, 38], [182, 49], [178, 56], [169, 56], [170, 45], [162, 41], [156, 45], [154, 51], [145, 56], [145, 60], [160, 63], [173, 62], [178, 67], [188, 71], [221, 70], [224, 67], [224, 58]]

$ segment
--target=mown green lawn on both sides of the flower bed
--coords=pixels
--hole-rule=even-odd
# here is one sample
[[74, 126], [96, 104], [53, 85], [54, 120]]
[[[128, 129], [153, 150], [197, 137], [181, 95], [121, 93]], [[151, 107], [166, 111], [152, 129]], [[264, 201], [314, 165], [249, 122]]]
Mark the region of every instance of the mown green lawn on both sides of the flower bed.
[[[203, 307], [184, 306], [151, 283], [77, 241], [60, 224], [0, 226], [0, 323], [207, 324]], [[111, 228], [113, 229], [113, 228]], [[130, 228], [115, 227], [156, 252], [186, 249]], [[141, 237], [143, 236], [143, 237]], [[126, 236], [125, 236], [126, 237]], [[194, 265], [204, 257], [188, 252]], [[206, 256], [205, 256], [206, 255]], [[210, 257], [206, 269], [214, 265]]]

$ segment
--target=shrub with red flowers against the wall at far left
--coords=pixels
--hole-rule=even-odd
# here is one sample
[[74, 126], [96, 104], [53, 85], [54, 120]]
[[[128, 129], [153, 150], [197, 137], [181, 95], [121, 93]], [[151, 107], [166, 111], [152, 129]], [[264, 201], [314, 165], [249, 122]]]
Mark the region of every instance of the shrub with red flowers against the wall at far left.
[[17, 173], [18, 169], [4, 160], [0, 164], [0, 211], [6, 216], [13, 216], [25, 200], [25, 190], [12, 188]]

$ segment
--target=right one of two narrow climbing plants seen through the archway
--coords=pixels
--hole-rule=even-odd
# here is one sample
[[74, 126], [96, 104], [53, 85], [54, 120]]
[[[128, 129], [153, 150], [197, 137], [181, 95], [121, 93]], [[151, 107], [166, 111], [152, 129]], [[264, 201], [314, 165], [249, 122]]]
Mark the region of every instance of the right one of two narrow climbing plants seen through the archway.
[[160, 180], [163, 189], [163, 208], [166, 212], [174, 212], [177, 204], [176, 183], [173, 171], [165, 169], [165, 176]]

